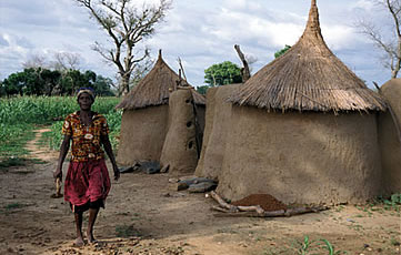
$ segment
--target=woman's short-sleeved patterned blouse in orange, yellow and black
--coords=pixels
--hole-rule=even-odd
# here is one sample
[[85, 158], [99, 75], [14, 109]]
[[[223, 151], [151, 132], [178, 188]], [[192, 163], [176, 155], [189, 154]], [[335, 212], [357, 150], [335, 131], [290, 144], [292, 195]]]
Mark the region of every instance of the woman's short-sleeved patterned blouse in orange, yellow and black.
[[103, 115], [94, 113], [92, 123], [87, 126], [81, 124], [79, 111], [71, 113], [66, 118], [61, 133], [72, 139], [71, 161], [104, 159], [100, 136], [109, 134], [109, 126]]

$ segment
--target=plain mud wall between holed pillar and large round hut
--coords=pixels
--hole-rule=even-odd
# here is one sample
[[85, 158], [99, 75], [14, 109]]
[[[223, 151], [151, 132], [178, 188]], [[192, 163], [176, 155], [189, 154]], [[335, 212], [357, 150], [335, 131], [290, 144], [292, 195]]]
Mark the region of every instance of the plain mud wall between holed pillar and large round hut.
[[240, 84], [210, 88], [207, 93], [205, 128], [201, 157], [196, 175], [219, 180], [225, 151], [227, 133], [231, 129], [232, 104], [225, 100]]

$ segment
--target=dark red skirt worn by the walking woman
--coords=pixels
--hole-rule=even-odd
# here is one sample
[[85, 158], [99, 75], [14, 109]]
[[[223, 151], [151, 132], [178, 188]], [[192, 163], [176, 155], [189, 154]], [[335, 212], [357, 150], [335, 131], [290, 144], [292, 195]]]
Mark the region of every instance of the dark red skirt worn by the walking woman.
[[88, 162], [71, 161], [64, 181], [64, 201], [73, 206], [104, 201], [110, 186], [104, 159]]

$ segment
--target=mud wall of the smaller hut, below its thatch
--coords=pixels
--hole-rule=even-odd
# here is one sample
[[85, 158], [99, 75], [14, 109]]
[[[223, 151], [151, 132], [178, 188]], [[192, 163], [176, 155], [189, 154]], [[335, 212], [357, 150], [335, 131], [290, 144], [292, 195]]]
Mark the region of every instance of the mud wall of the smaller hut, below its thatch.
[[117, 162], [128, 166], [137, 161], [159, 161], [168, 118], [168, 105], [124, 111]]

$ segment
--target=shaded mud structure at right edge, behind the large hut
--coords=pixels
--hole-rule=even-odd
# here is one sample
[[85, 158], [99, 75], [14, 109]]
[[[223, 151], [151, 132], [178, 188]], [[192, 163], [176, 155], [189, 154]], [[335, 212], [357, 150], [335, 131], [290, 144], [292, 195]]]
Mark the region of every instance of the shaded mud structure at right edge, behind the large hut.
[[401, 192], [401, 79], [392, 79], [380, 89], [391, 111], [380, 114], [379, 142], [384, 193]]

